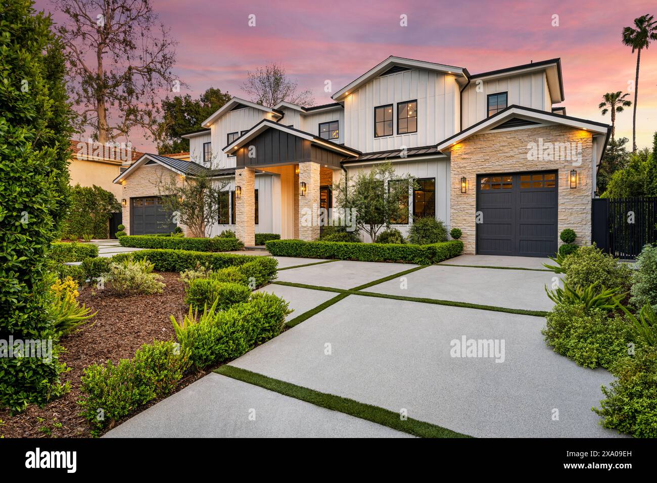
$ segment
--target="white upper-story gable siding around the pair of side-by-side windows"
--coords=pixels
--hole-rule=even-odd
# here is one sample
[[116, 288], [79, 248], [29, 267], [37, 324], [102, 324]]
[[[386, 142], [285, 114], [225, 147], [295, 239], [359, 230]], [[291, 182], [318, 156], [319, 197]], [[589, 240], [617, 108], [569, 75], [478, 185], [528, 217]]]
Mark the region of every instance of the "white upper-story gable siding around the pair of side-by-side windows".
[[[417, 100], [417, 132], [397, 134], [397, 103]], [[374, 137], [374, 108], [393, 104], [393, 135]], [[380, 76], [344, 101], [344, 143], [362, 152], [435, 145], [459, 131], [456, 77], [412, 69]]]

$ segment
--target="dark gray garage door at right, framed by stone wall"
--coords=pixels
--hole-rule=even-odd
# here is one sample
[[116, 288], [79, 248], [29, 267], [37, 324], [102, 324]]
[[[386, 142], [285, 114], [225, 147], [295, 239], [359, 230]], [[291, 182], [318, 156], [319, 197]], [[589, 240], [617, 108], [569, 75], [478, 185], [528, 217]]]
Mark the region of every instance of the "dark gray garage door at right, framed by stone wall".
[[477, 253], [553, 256], [556, 252], [557, 173], [477, 177]]

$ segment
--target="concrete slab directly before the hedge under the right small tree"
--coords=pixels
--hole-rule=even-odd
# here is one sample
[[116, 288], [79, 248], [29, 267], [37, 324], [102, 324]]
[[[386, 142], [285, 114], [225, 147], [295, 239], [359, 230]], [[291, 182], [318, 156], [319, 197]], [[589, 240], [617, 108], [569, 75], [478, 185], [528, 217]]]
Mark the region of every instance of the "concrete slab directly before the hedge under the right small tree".
[[354, 288], [413, 267], [417, 265], [338, 260], [330, 264], [279, 271], [277, 280], [321, 287]]

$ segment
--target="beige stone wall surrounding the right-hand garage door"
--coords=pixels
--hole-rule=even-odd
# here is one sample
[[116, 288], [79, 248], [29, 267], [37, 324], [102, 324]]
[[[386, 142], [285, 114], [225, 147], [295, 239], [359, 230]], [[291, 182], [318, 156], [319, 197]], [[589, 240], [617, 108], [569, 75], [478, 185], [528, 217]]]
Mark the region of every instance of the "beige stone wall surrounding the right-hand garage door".
[[[577, 160], [529, 160], [530, 143], [581, 143], [581, 164]], [[591, 133], [555, 125], [487, 132], [474, 135], [445, 151], [451, 152], [451, 227], [463, 231], [464, 253], [475, 252], [476, 180], [478, 174], [558, 170], [558, 227], [577, 233], [578, 244], [591, 243], [591, 198], [593, 138]], [[578, 172], [578, 187], [571, 189], [570, 170]], [[468, 191], [461, 194], [461, 177], [468, 179]]]

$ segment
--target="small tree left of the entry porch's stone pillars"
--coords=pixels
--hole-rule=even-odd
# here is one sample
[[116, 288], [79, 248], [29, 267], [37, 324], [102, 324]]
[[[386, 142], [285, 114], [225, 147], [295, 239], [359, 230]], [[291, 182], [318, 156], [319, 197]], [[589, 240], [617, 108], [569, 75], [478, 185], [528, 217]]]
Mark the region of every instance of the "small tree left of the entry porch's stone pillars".
[[186, 225], [193, 237], [206, 237], [206, 229], [219, 219], [227, 206], [225, 189], [229, 184], [213, 179], [208, 172], [185, 177], [171, 175], [168, 180], [160, 177], [155, 183], [164, 210], [174, 212], [176, 222]]

